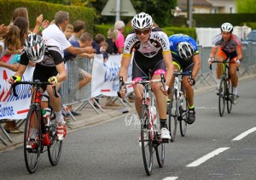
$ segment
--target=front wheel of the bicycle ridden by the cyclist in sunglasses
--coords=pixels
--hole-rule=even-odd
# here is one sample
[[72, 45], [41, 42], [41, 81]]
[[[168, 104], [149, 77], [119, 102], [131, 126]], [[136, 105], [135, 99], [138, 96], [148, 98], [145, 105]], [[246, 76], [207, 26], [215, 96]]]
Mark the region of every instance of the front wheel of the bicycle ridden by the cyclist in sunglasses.
[[153, 144], [149, 125], [148, 106], [143, 105], [141, 121], [141, 143], [144, 168], [148, 176], [151, 174], [153, 166]]

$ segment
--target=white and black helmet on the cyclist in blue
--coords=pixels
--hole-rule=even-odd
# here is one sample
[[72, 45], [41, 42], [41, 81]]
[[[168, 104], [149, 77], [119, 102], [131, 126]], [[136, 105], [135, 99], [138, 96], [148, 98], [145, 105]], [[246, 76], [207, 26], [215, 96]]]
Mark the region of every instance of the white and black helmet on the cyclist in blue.
[[194, 54], [194, 48], [189, 42], [179, 42], [177, 44], [177, 52], [182, 59], [189, 60]]

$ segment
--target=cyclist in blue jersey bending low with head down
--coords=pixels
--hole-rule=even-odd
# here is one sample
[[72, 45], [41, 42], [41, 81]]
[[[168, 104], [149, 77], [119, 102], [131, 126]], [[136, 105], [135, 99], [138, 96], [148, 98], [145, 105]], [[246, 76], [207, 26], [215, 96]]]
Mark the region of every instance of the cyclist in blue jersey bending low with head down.
[[[191, 80], [189, 80], [189, 76], [183, 77], [183, 87], [185, 88], [189, 102], [189, 118], [187, 122], [188, 124], [192, 124], [195, 122], [194, 89], [192, 86], [195, 85], [195, 77], [200, 70], [200, 55], [197, 44], [192, 37], [184, 34], [172, 35], [169, 37], [169, 42], [174, 70], [183, 70], [183, 72], [192, 71]], [[173, 81], [172, 79], [170, 84], [171, 89]], [[169, 95], [168, 103], [170, 103], [170, 98], [171, 96]]]

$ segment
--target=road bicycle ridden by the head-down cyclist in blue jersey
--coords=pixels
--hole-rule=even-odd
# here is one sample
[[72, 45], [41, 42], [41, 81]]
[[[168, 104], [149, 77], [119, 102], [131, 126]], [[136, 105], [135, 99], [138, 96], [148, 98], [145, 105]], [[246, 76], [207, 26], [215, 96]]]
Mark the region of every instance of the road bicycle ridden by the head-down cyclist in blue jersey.
[[186, 98], [186, 92], [183, 87], [183, 76], [189, 76], [191, 79], [192, 71], [178, 72], [174, 71], [174, 82], [172, 87], [171, 102], [168, 107], [168, 121], [171, 141], [176, 138], [177, 123], [182, 137], [187, 132], [187, 120], [189, 117], [189, 104]]

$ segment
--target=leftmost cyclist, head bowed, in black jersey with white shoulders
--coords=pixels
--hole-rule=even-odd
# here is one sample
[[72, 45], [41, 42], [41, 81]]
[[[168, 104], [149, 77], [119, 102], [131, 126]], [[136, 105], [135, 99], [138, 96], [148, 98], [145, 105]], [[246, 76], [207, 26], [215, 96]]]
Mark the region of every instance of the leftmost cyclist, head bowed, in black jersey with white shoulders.
[[61, 95], [56, 98], [52, 86], [56, 87], [56, 91], [61, 87], [61, 83], [67, 78], [64, 67], [64, 60], [61, 53], [62, 49], [58, 42], [54, 40], [43, 40], [42, 37], [36, 34], [29, 34], [26, 37], [24, 49], [20, 54], [20, 67], [15, 73], [16, 79], [10, 77], [9, 83], [20, 82], [26, 70], [29, 60], [36, 63], [32, 81], [39, 80], [40, 82], [50, 82], [52, 85], [42, 86], [42, 91], [45, 90], [49, 94], [51, 106], [55, 111], [55, 118], [58, 122], [57, 137], [62, 140], [66, 137], [67, 127], [61, 115]]

